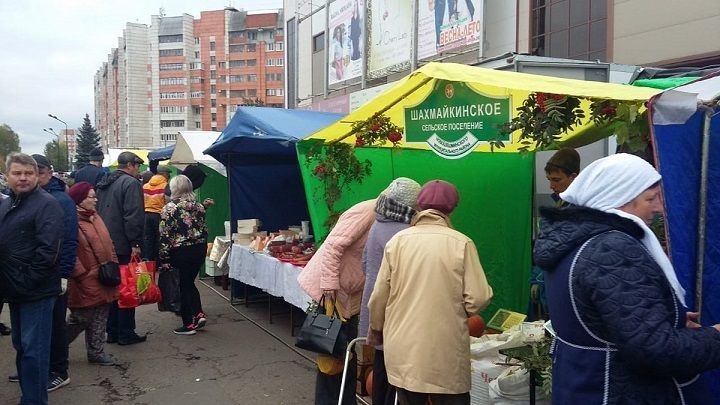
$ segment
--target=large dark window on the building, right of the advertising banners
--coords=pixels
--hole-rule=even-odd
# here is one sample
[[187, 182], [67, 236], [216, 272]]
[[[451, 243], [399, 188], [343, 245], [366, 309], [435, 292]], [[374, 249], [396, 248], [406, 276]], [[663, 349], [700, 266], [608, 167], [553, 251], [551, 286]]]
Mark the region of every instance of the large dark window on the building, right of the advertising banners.
[[533, 54], [606, 60], [607, 4], [607, 0], [532, 0]]

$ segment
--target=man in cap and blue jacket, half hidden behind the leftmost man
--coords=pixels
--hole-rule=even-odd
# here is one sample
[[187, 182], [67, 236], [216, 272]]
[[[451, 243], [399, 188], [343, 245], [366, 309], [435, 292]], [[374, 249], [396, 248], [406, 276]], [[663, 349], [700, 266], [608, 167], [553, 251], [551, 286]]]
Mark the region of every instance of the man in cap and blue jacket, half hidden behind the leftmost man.
[[53, 329], [50, 343], [50, 378], [48, 391], [54, 391], [70, 383], [68, 376], [68, 344], [65, 334], [65, 315], [67, 313], [67, 281], [75, 268], [77, 257], [77, 210], [75, 203], [66, 192], [65, 183], [53, 176], [52, 165], [43, 155], [32, 155], [38, 164], [38, 185], [60, 203], [63, 209], [63, 241], [60, 245], [58, 268], [62, 294], [57, 297], [53, 309]]

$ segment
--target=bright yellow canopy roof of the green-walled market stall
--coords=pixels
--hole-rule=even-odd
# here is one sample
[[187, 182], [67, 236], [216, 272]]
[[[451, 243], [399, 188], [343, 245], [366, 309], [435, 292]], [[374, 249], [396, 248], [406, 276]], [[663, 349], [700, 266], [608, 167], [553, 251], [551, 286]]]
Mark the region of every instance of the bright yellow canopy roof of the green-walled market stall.
[[[366, 120], [378, 111], [384, 111], [384, 114], [389, 116], [393, 123], [405, 127], [405, 124], [407, 124], [405, 122], [405, 108], [418, 105], [425, 100], [428, 95], [436, 90], [435, 87], [440, 81], [465, 83], [474, 92], [483, 96], [509, 97], [510, 110], [513, 116], [516, 114], [515, 107], [522, 104], [522, 101], [533, 92], [638, 102], [646, 101], [660, 92], [660, 90], [652, 88], [539, 76], [454, 63], [428, 63], [398, 81], [395, 86], [385, 90], [375, 99], [353, 111], [341, 121], [312, 134], [306, 139], [325, 141], [337, 139], [349, 134], [353, 123]], [[579, 137], [590, 127], [592, 125], [578, 127], [574, 132], [565, 135], [563, 140]], [[607, 136], [608, 134], [603, 133], [603, 135]], [[518, 136], [517, 133], [513, 134], [513, 141]], [[590, 143], [595, 140], [597, 140], [597, 136], [593, 134], [588, 136], [583, 143]], [[345, 142], [352, 143], [354, 138], [348, 137]], [[402, 142], [404, 148], [430, 149], [426, 143], [408, 144], [406, 139], [403, 139]], [[383, 146], [390, 147], [390, 144]], [[575, 143], [574, 146], [580, 145]], [[498, 151], [515, 152], [518, 147], [518, 144], [511, 141], [506, 142], [506, 147]], [[487, 142], [481, 142], [475, 147], [474, 151], [490, 151], [490, 146]]]

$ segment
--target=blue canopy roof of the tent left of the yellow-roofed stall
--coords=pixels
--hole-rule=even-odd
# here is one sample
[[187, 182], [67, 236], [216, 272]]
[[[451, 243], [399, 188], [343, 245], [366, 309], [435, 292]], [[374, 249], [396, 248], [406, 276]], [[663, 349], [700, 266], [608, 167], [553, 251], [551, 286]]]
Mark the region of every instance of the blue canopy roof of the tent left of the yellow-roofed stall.
[[239, 107], [205, 153], [227, 165], [228, 155], [295, 156], [295, 143], [342, 118], [341, 114], [270, 107]]

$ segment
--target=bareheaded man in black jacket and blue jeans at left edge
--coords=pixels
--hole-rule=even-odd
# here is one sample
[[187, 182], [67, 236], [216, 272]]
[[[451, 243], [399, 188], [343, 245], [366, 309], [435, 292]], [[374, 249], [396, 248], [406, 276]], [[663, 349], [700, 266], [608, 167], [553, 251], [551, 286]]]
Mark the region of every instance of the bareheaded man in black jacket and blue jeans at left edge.
[[46, 404], [63, 211], [38, 187], [31, 156], [10, 154], [6, 167], [10, 198], [0, 202], [0, 295], [10, 303], [22, 403]]

